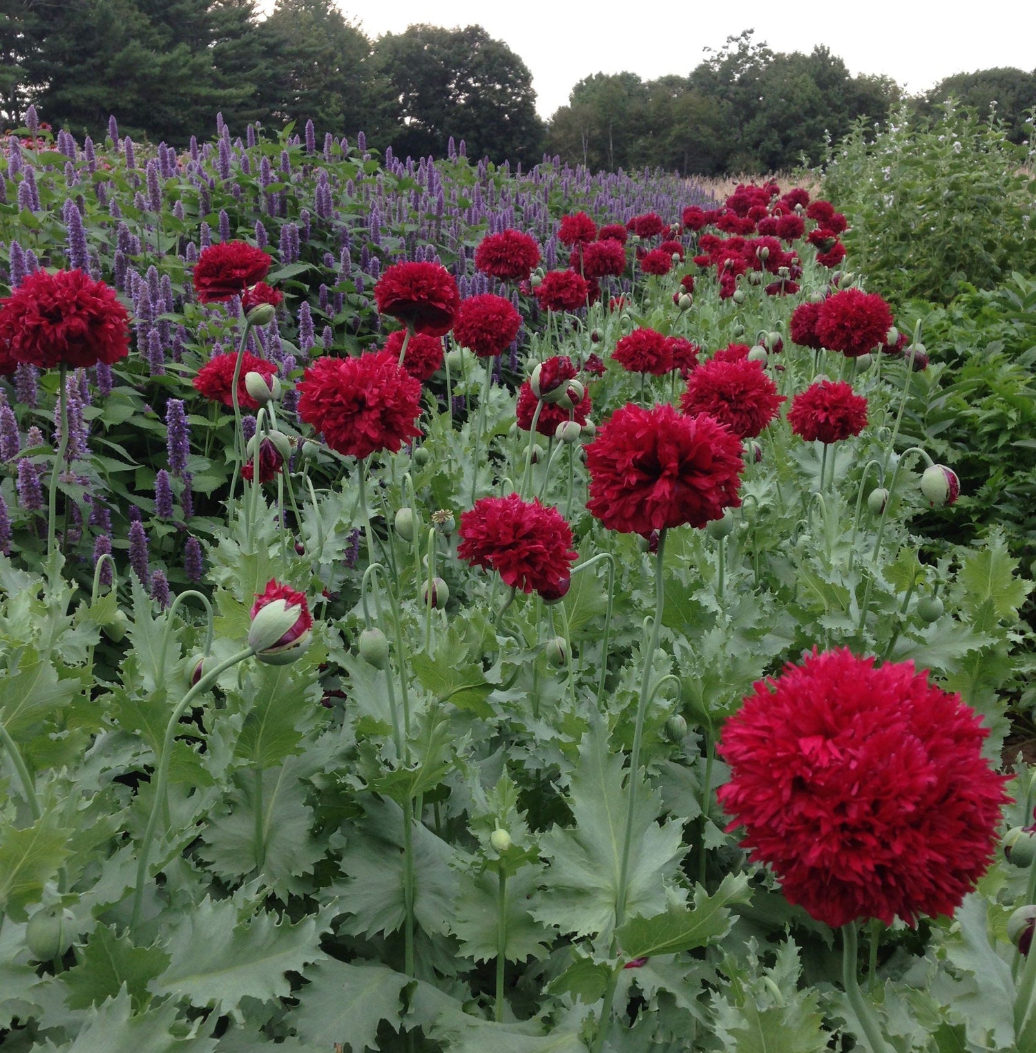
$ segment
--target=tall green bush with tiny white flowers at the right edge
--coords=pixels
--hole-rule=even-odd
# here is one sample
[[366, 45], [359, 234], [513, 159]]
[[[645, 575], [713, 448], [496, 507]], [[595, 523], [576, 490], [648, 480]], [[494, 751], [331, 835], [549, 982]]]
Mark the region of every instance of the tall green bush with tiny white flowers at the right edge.
[[929, 120], [899, 110], [871, 138], [865, 122], [837, 146], [824, 194], [839, 203], [853, 265], [876, 292], [949, 303], [962, 282], [992, 289], [1036, 247], [1024, 153], [1003, 127], [953, 102]]

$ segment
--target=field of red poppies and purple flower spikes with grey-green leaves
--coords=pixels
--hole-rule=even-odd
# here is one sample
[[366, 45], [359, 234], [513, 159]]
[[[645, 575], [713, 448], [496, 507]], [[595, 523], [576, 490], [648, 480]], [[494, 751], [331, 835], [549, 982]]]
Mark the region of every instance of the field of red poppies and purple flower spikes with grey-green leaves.
[[1036, 1049], [1024, 513], [838, 207], [7, 137], [5, 1049]]

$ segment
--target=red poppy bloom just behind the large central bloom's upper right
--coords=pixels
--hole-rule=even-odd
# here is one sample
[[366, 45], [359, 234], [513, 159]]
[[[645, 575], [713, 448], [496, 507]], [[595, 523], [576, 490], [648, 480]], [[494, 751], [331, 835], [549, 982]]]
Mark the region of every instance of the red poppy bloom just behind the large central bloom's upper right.
[[724, 362], [713, 356], [691, 374], [680, 409], [691, 416], [711, 414], [739, 438], [754, 439], [783, 401], [759, 362]]

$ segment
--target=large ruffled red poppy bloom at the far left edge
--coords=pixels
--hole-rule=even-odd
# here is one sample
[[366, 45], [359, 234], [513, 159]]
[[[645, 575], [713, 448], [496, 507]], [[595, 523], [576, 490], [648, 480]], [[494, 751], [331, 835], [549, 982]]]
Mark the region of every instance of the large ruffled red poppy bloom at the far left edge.
[[115, 291], [83, 271], [34, 271], [0, 300], [0, 373], [112, 365], [130, 351], [130, 316]]

